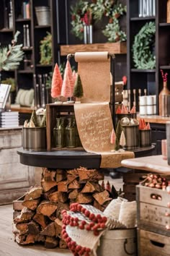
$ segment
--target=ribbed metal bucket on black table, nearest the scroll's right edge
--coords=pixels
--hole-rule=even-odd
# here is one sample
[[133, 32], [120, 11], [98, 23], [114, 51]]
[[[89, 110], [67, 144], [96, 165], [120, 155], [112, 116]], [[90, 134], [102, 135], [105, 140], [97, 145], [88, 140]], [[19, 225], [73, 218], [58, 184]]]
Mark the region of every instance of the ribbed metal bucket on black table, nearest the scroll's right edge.
[[138, 125], [123, 125], [122, 129], [125, 133], [125, 149], [131, 150], [139, 147], [139, 129]]

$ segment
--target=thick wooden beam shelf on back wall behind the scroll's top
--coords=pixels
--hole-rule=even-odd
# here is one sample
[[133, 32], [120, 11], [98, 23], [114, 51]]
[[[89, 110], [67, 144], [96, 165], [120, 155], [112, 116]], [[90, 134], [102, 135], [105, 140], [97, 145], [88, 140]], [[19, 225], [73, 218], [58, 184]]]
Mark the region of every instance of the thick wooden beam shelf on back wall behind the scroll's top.
[[93, 43], [61, 46], [61, 56], [79, 51], [109, 51], [109, 54], [126, 54], [126, 43]]

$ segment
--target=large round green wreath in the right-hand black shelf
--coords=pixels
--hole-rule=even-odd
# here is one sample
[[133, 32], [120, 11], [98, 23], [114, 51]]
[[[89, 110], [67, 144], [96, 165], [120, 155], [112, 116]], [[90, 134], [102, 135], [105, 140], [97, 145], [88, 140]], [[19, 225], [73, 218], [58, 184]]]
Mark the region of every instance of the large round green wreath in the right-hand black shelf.
[[147, 22], [135, 35], [132, 51], [134, 66], [137, 69], [154, 69], [156, 67], [156, 56], [153, 55], [155, 33], [155, 22]]

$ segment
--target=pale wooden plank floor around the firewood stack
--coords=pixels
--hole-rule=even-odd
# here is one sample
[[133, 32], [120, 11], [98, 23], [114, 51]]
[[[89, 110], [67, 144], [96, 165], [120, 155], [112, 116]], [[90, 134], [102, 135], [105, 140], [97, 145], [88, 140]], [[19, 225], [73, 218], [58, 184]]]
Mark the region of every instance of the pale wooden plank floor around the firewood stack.
[[[122, 179], [111, 179], [106, 177], [104, 182], [109, 180], [118, 190], [122, 187]], [[45, 249], [41, 245], [18, 245], [14, 242], [12, 234], [12, 205], [0, 205], [0, 256], [72, 256], [68, 249]]]

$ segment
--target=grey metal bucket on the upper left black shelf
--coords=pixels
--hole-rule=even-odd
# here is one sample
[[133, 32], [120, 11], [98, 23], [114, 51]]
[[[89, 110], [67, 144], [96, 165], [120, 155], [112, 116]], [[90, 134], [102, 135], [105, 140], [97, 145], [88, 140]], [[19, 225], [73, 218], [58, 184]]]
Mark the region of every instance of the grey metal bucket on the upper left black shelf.
[[50, 7], [35, 7], [37, 25], [50, 25]]

